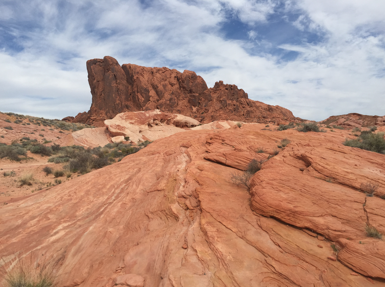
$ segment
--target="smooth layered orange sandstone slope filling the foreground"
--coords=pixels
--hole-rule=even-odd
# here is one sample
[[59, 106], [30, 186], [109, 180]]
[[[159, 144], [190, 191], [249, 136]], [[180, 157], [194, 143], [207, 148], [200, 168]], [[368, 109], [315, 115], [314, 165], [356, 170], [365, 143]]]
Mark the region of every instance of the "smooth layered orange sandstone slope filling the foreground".
[[[2, 264], [39, 252], [58, 286], [385, 286], [385, 242], [365, 234], [385, 232], [385, 155], [343, 146], [343, 130], [262, 128], [176, 133], [8, 202]], [[268, 160], [249, 191], [231, 173], [253, 158]]]

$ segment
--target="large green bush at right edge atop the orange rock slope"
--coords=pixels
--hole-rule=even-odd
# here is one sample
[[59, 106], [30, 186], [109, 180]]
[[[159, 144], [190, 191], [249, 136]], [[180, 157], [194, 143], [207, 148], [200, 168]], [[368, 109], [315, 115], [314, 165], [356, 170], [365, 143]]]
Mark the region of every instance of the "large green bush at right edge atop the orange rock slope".
[[371, 131], [362, 131], [357, 139], [346, 139], [343, 145], [385, 154], [384, 134], [383, 132], [372, 133]]

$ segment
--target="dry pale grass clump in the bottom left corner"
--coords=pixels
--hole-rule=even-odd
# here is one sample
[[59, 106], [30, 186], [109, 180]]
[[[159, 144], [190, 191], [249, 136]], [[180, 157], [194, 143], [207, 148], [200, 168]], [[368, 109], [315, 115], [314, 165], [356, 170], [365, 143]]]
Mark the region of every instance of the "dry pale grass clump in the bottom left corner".
[[11, 267], [1, 270], [5, 280], [5, 287], [54, 287], [54, 272], [52, 265], [39, 264], [38, 260], [33, 261], [32, 256], [29, 262], [25, 258], [13, 260]]

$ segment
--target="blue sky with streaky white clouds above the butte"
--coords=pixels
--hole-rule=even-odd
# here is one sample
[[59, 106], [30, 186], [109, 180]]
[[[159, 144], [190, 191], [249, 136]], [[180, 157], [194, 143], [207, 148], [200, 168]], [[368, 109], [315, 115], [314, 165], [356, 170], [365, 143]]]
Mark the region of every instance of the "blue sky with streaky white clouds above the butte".
[[91, 104], [85, 62], [192, 70], [322, 120], [385, 114], [383, 0], [3, 0], [0, 111]]

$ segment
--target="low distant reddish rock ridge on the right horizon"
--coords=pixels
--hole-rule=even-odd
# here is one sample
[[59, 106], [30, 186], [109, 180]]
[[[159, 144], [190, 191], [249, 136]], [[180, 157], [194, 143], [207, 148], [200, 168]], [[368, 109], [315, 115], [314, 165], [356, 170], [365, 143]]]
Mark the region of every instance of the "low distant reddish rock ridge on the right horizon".
[[342, 126], [346, 129], [351, 128], [370, 128], [371, 126], [385, 126], [385, 116], [367, 116], [364, 114], [350, 113], [340, 116], [330, 116], [322, 124]]

